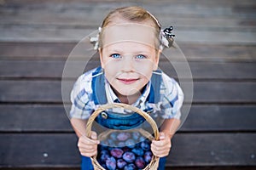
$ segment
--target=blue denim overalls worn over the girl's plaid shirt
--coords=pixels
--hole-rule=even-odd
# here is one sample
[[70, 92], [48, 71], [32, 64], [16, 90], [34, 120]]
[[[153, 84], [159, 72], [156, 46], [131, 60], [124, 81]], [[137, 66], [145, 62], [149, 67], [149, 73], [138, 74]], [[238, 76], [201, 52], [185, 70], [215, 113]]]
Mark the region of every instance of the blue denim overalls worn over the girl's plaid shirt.
[[[102, 72], [102, 68], [98, 67], [96, 71], [93, 73], [93, 79], [92, 79], [92, 97], [94, 99], [95, 105], [104, 105], [107, 103], [107, 96], [105, 92], [105, 77], [103, 74], [99, 74]], [[98, 76], [96, 76], [98, 75]], [[151, 87], [150, 92], [148, 95], [148, 102], [149, 103], [158, 103], [160, 100], [160, 81], [161, 81], [161, 75], [153, 74], [151, 77]], [[153, 111], [152, 108], [148, 108], [144, 110], [146, 112]], [[96, 122], [101, 124], [103, 127], [108, 127], [110, 129], [119, 129], [119, 130], [125, 130], [130, 129], [134, 127], [139, 127], [143, 122], [145, 122], [145, 119], [143, 116], [140, 116], [139, 114], [118, 114], [113, 112], [105, 112], [104, 116], [100, 114], [96, 117]], [[166, 157], [160, 158], [159, 168], [158, 170], [164, 170], [166, 164]], [[89, 157], [82, 156], [82, 170], [93, 170], [92, 163], [90, 161]]]

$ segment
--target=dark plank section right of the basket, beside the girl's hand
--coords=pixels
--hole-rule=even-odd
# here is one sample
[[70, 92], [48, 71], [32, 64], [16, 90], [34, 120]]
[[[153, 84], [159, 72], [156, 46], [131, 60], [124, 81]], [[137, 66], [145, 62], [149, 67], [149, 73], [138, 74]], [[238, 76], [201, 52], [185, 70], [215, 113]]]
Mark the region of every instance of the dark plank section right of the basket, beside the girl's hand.
[[255, 166], [255, 138], [253, 133], [177, 134], [166, 165]]

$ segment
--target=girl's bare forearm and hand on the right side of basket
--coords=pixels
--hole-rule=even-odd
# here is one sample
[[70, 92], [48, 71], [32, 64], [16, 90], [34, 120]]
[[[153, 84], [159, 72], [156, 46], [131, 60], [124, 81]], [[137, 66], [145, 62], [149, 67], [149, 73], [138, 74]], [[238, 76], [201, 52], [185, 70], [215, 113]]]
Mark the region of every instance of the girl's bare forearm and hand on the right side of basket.
[[168, 156], [172, 147], [171, 139], [180, 124], [176, 118], [166, 119], [160, 127], [160, 140], [153, 140], [151, 150], [154, 156]]

